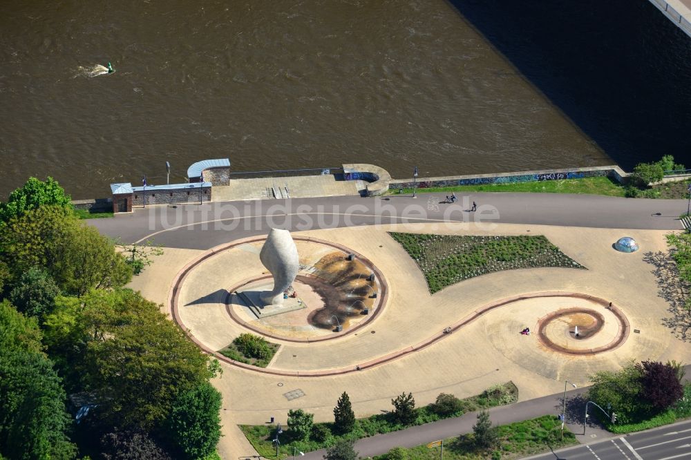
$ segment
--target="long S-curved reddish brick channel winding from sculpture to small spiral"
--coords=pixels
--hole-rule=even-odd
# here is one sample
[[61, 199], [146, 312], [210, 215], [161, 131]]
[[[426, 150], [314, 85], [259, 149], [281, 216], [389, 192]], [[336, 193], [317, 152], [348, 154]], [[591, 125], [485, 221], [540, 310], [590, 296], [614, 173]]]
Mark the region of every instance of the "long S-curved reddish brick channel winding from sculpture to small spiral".
[[[319, 240], [318, 238], [312, 238], [312, 237], [300, 237], [302, 240], [314, 240], [318, 242], [325, 242], [328, 245], [332, 247], [337, 247], [339, 249], [347, 249], [345, 247], [342, 247], [341, 245], [338, 245], [333, 242], [328, 242], [328, 241], [323, 241]], [[479, 309], [476, 309], [475, 311], [471, 312], [471, 314], [466, 315], [462, 320], [458, 321], [451, 327], [448, 327], [450, 332], [445, 333], [445, 332], [438, 332], [437, 334], [430, 336], [426, 340], [417, 343], [415, 345], [411, 345], [410, 347], [406, 347], [404, 349], [400, 349], [396, 352], [392, 352], [390, 354], [386, 354], [384, 356], [379, 356], [379, 358], [372, 359], [370, 361], [367, 361], [366, 363], [362, 363], [357, 365], [356, 367], [339, 367], [337, 369], [332, 369], [332, 370], [317, 370], [317, 371], [286, 371], [286, 370], [271, 370], [271, 369], [266, 369], [263, 367], [256, 367], [252, 365], [248, 365], [245, 363], [240, 363], [238, 361], [233, 361], [230, 358], [227, 358], [226, 356], [223, 356], [222, 354], [215, 352], [214, 350], [209, 349], [200, 341], [198, 341], [192, 334], [190, 334], [189, 329], [186, 329], [184, 327], [184, 324], [182, 323], [182, 320], [180, 319], [180, 316], [178, 314], [178, 298], [180, 296], [180, 285], [182, 285], [182, 282], [184, 282], [184, 279], [187, 278], [187, 275], [193, 269], [193, 267], [196, 267], [200, 262], [207, 260], [211, 256], [214, 256], [215, 253], [223, 251], [225, 249], [229, 249], [230, 247], [234, 247], [236, 245], [241, 245], [247, 242], [254, 242], [254, 241], [261, 241], [265, 239], [265, 237], [249, 237], [249, 238], [243, 238], [242, 240], [236, 240], [235, 242], [231, 243], [226, 243], [224, 245], [220, 245], [217, 247], [214, 247], [212, 249], [209, 249], [207, 253], [203, 254], [202, 256], [196, 258], [192, 262], [189, 262], [183, 269], [178, 273], [176, 278], [173, 279], [173, 287], [169, 291], [169, 298], [168, 298], [168, 303], [171, 307], [171, 314], [173, 316], [173, 320], [175, 320], [176, 324], [187, 334], [189, 339], [195, 343], [200, 349], [202, 349], [203, 352], [206, 354], [209, 354], [210, 356], [214, 356], [214, 358], [217, 358], [219, 361], [223, 361], [224, 363], [228, 363], [229, 365], [233, 365], [235, 367], [240, 367], [245, 370], [249, 370], [252, 372], [260, 372], [261, 374], [268, 374], [268, 375], [276, 375], [276, 376], [291, 376], [291, 377], [320, 377], [320, 376], [337, 376], [337, 375], [344, 375], [344, 374], [351, 374], [353, 372], [360, 372], [362, 370], [367, 370], [372, 367], [377, 367], [379, 365], [388, 363], [390, 361], [394, 361], [395, 359], [402, 358], [404, 356], [407, 356], [408, 354], [411, 354], [413, 352], [417, 352], [419, 350], [425, 349], [426, 347], [433, 345], [434, 343], [437, 343], [438, 341], [441, 341], [442, 338], [446, 335], [453, 334], [453, 332], [457, 332], [461, 327], [468, 325], [469, 323], [472, 323], [474, 320], [482, 316], [483, 314], [487, 312], [491, 312], [493, 309], [503, 307], [504, 305], [508, 305], [510, 303], [515, 303], [520, 300], [527, 300], [531, 298], [540, 298], [540, 297], [574, 297], [574, 298], [583, 298], [585, 300], [590, 300], [591, 302], [599, 303], [600, 305], [603, 305], [603, 307], [608, 307], [609, 302], [603, 298], [599, 298], [596, 296], [591, 296], [589, 294], [582, 294], [579, 292], [560, 292], [560, 291], [551, 291], [551, 292], [538, 292], [538, 293], [532, 293], [532, 294], [522, 294], [519, 296], [513, 296], [509, 298], [505, 298], [502, 300], [499, 300], [498, 302], [491, 303], [489, 305], [485, 305], [484, 307], [480, 307]], [[372, 267], [375, 267], [372, 265]], [[375, 267], [376, 269], [376, 267]], [[381, 274], [380, 274], [381, 275]], [[383, 283], [385, 283], [384, 277], [381, 276], [379, 278], [382, 280]], [[388, 296], [388, 292], [384, 290], [384, 293], [382, 294], [382, 297]], [[384, 300], [384, 299], [383, 299]], [[382, 303], [384, 301], [382, 300]], [[622, 330], [620, 330], [619, 335], [622, 336], [621, 341], [617, 344], [617, 347], [623, 345], [625, 342], [626, 338], [629, 336], [630, 332], [630, 324], [629, 321], [627, 320], [626, 316], [623, 315], [620, 309], [616, 306], [612, 306], [612, 311], [617, 312], [618, 316], [621, 318], [623, 321], [622, 325]], [[375, 312], [376, 313], [376, 312]], [[352, 329], [350, 329], [352, 331]], [[612, 348], [614, 349], [614, 348]]]

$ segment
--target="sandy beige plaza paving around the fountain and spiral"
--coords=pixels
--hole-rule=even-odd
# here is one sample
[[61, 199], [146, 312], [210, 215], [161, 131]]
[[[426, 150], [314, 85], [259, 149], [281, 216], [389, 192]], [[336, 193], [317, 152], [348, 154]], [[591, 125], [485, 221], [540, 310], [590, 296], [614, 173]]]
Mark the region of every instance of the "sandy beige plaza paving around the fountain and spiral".
[[[466, 280], [431, 296], [422, 273], [386, 230], [468, 235], [545, 235], [587, 270], [542, 268], [503, 271]], [[247, 455], [248, 444], [236, 423], [265, 423], [271, 416], [285, 423], [287, 410], [314, 412], [316, 421], [332, 419], [333, 406], [347, 391], [357, 416], [390, 410], [390, 399], [413, 392], [418, 405], [430, 403], [440, 392], [471, 396], [495, 383], [513, 381], [522, 401], [563, 390], [563, 379], [588, 383], [596, 370], [615, 370], [631, 360], [654, 359], [688, 362], [691, 350], [662, 325], [668, 304], [658, 297], [654, 266], [645, 262], [650, 251], [666, 251], [665, 231], [591, 229], [522, 224], [399, 224], [306, 231], [322, 240], [350, 247], [369, 258], [384, 274], [390, 296], [384, 311], [357, 336], [323, 343], [281, 343], [269, 368], [275, 370], [329, 370], [358, 365], [415, 345], [438, 334], [475, 309], [499, 300], [545, 291], [590, 294], [617, 305], [630, 321], [627, 341], [598, 356], [566, 356], [540, 345], [537, 337], [521, 336], [524, 326], [537, 330], [547, 312], [580, 306], [575, 300], [522, 301], [487, 312], [460, 331], [395, 361], [340, 376], [274, 376], [224, 364], [225, 373], [214, 381], [223, 392], [223, 433], [219, 450], [224, 458]], [[618, 253], [612, 243], [632, 236], [641, 251]], [[167, 249], [166, 254], [132, 287], [151, 300], [166, 298], [170, 283], [186, 262], [202, 251]], [[164, 259], [167, 258], [167, 259]], [[257, 260], [254, 260], [256, 258]], [[245, 257], [224, 257], [223, 251], [202, 262], [181, 288], [180, 317], [185, 327], [209, 347], [218, 349], [242, 331], [225, 313], [225, 290], [234, 280], [257, 267], [256, 251]], [[201, 300], [200, 300], [201, 299]], [[191, 304], [191, 305], [188, 305]], [[611, 327], [611, 326], [609, 326]], [[534, 329], [533, 329], [534, 328]], [[372, 333], [374, 332], [374, 333]], [[614, 334], [605, 328], [603, 334]], [[289, 400], [287, 392], [304, 396]]]

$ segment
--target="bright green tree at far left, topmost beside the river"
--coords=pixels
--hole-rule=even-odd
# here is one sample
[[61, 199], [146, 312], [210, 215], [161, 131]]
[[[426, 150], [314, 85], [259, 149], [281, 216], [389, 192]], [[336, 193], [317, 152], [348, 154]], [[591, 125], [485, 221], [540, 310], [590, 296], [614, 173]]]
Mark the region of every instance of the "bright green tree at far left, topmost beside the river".
[[53, 178], [48, 177], [45, 181], [29, 178], [21, 189], [10, 193], [7, 202], [0, 203], [0, 222], [8, 222], [11, 218], [45, 205], [68, 208], [70, 195], [66, 195]]

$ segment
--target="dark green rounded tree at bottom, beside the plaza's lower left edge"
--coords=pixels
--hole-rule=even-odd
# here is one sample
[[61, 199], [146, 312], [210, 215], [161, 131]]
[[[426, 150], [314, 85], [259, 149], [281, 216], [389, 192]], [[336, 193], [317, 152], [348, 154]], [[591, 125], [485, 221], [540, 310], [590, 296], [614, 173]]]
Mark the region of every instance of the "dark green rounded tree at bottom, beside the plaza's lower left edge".
[[182, 457], [202, 459], [216, 451], [220, 406], [220, 393], [207, 381], [178, 396], [164, 427]]

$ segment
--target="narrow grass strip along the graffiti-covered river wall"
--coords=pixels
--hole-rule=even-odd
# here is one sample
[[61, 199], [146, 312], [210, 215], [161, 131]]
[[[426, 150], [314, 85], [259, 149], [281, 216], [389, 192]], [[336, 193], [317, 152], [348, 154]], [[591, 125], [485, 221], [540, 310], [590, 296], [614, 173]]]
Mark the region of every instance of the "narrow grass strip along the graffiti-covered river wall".
[[[392, 185], [392, 187], [395, 184]], [[457, 185], [450, 187], [430, 187], [417, 189], [418, 193], [447, 192], [522, 192], [522, 193], [578, 193], [589, 195], [624, 196], [624, 187], [611, 178], [583, 178], [565, 180], [545, 180], [514, 182], [512, 184]], [[388, 191], [396, 195], [398, 189]], [[413, 189], [403, 189], [403, 193], [413, 193]]]

